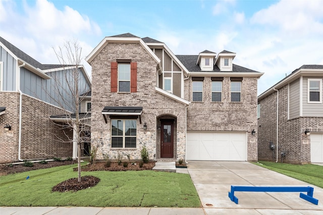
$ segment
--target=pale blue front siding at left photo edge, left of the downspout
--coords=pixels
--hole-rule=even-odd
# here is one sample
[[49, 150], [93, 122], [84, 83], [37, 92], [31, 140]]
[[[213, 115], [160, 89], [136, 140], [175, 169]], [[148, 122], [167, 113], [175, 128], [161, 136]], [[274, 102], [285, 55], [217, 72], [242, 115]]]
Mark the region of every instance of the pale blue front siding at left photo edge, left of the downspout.
[[3, 91], [16, 91], [17, 60], [0, 46], [0, 61], [3, 62]]

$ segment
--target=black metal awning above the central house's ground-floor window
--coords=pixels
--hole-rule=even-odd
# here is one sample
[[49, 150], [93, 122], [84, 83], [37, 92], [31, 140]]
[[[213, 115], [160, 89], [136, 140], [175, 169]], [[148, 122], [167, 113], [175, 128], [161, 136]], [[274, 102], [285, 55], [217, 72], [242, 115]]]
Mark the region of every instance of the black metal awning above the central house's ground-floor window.
[[141, 113], [142, 107], [105, 106], [102, 110], [105, 123], [107, 123], [106, 115], [109, 115], [110, 118], [114, 118], [114, 116], [127, 116], [128, 118], [139, 117], [141, 124]]

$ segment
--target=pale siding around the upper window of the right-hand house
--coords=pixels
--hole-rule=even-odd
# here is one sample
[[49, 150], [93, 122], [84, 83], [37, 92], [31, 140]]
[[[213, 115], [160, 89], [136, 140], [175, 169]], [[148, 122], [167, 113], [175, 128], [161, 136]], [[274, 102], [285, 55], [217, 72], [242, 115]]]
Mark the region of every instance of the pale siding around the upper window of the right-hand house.
[[[307, 103], [307, 80], [308, 79], [322, 79], [319, 77], [303, 77], [302, 83], [302, 105], [303, 116], [323, 116], [323, 103]], [[322, 82], [323, 85], [323, 82]], [[323, 89], [323, 86], [322, 86]], [[322, 96], [322, 95], [320, 95]]]

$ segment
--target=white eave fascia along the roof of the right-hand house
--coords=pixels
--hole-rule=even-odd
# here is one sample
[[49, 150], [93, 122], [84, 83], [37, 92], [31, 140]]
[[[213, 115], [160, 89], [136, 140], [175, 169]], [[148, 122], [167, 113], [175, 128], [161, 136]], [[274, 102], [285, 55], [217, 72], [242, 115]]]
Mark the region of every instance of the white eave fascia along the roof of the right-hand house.
[[299, 77], [304, 76], [304, 75], [305, 76], [319, 76], [319, 77], [322, 77], [323, 76], [323, 69], [304, 69], [304, 68], [298, 69], [297, 71], [294, 71], [294, 73], [287, 76], [285, 79], [281, 80], [280, 82], [278, 82], [276, 85], [274, 85], [270, 89], [268, 89], [265, 92], [263, 92], [262, 94], [260, 94], [258, 96], [258, 101], [263, 99], [264, 97], [272, 94], [274, 92], [274, 88], [276, 90], [278, 90], [281, 87], [287, 85], [288, 83], [291, 83], [291, 82], [295, 81], [296, 79], [298, 79]]

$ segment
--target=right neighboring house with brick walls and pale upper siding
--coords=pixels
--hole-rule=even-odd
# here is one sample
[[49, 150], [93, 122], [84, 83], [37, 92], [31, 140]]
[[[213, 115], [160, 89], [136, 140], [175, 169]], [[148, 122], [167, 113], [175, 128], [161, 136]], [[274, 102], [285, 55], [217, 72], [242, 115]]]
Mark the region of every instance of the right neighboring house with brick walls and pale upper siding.
[[258, 159], [323, 162], [323, 65], [303, 65], [258, 96]]

